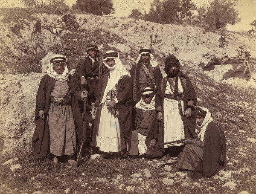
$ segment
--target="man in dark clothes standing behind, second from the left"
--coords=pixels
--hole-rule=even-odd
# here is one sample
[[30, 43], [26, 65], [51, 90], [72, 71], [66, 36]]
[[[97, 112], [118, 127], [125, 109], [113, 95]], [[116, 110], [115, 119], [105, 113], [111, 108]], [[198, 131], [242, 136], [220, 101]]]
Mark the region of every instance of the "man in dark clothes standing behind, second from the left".
[[90, 112], [93, 107], [93, 103], [96, 98], [94, 91], [96, 90], [97, 83], [101, 78], [102, 74], [106, 72], [105, 66], [102, 64], [102, 58], [99, 56], [99, 48], [94, 43], [89, 43], [86, 46], [86, 52], [88, 56], [79, 61], [76, 67], [76, 72], [73, 76], [76, 82], [76, 93], [79, 98], [80, 111], [83, 112], [83, 99], [80, 99], [80, 93], [88, 92], [87, 108], [86, 108], [86, 146], [85, 152], [90, 150], [90, 137], [91, 129], [90, 125], [93, 125], [94, 119]]

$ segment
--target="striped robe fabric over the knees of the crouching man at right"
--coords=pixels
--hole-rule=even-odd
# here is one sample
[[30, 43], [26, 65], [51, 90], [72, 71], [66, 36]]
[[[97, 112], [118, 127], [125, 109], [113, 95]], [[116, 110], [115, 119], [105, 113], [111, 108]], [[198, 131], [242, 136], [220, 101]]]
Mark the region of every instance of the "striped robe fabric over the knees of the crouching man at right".
[[186, 170], [195, 170], [195, 168], [203, 161], [204, 148], [198, 145], [185, 145], [178, 168]]

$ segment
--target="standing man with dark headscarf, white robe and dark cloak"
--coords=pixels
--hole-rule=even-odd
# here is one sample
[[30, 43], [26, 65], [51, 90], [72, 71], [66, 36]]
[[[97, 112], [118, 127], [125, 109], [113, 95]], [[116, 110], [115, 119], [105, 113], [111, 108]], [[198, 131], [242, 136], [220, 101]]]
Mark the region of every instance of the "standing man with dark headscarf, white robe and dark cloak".
[[[195, 137], [196, 92], [188, 76], [180, 71], [180, 62], [174, 55], [165, 61], [165, 72], [157, 89], [155, 107], [157, 119], [161, 122], [158, 143]], [[176, 156], [183, 143], [161, 146], [165, 155], [163, 161]]]

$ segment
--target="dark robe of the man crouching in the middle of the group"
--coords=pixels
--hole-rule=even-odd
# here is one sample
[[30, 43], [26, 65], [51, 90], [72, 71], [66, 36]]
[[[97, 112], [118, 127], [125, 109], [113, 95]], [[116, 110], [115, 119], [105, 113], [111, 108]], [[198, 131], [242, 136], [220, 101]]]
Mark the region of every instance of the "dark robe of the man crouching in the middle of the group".
[[[137, 156], [139, 154], [139, 147], [142, 146], [142, 143], [137, 144], [138, 133], [145, 135], [145, 151], [147, 151], [146, 156], [149, 158], [154, 158], [162, 155], [162, 152], [158, 149], [158, 147], [150, 148], [150, 142], [152, 139], [158, 139], [158, 121], [157, 121], [157, 113], [155, 110], [146, 111], [140, 110], [136, 108], [136, 118], [135, 118], [135, 130], [132, 132], [132, 145], [131, 150], [129, 152], [130, 156]], [[147, 116], [147, 118], [145, 118]], [[143, 144], [144, 145], [144, 144]], [[145, 146], [144, 145], [144, 146]]]

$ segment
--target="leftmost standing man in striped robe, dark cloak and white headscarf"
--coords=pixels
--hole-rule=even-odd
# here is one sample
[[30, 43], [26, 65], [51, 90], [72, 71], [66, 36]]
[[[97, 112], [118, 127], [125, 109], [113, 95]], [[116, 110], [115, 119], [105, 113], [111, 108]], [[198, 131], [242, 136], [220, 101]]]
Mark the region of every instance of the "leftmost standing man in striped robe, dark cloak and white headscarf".
[[55, 165], [63, 155], [75, 164], [77, 143], [81, 139], [79, 104], [66, 63], [67, 58], [62, 55], [55, 55], [49, 61], [47, 74], [41, 79], [36, 96], [33, 156], [39, 159], [50, 152]]

